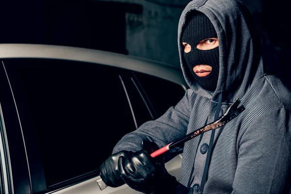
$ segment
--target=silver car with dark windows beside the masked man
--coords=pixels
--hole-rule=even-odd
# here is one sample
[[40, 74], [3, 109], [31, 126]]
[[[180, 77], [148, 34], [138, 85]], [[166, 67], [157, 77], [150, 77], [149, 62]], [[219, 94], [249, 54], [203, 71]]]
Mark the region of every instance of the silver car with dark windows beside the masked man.
[[[94, 49], [0, 44], [0, 194], [100, 190], [99, 166], [126, 133], [188, 88], [179, 68]], [[181, 155], [166, 163], [179, 179]]]

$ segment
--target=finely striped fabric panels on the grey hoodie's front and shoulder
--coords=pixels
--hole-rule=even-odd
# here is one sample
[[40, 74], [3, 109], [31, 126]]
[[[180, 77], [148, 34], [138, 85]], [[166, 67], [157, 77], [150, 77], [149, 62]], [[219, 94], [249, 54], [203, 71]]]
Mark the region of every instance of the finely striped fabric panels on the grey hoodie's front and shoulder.
[[[240, 141], [249, 126], [261, 115], [269, 111], [283, 108], [290, 101], [285, 95], [282, 83], [271, 75], [262, 75], [252, 84], [250, 90], [241, 99], [246, 108], [239, 116], [230, 121], [221, 130], [213, 143], [208, 178], [204, 194], [231, 194], [237, 168]], [[188, 126], [190, 133], [205, 124], [209, 114], [210, 100], [195, 94], [190, 99], [191, 117]], [[196, 107], [196, 108], [193, 108]], [[199, 107], [199, 109], [197, 109]], [[226, 109], [226, 107], [224, 108]], [[259, 129], [258, 129], [259, 130]], [[180, 182], [187, 186], [194, 179], [194, 162], [199, 150], [199, 137], [185, 143], [181, 167]], [[200, 145], [201, 146], [201, 145]], [[191, 176], [191, 172], [193, 175]], [[189, 185], [188, 185], [189, 186]]]

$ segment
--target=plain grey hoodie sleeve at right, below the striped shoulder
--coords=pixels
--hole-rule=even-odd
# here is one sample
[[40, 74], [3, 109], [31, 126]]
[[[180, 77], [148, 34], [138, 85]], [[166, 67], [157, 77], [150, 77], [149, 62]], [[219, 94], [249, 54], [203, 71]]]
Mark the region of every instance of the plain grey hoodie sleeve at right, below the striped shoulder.
[[232, 194], [289, 194], [291, 113], [261, 115], [242, 136]]

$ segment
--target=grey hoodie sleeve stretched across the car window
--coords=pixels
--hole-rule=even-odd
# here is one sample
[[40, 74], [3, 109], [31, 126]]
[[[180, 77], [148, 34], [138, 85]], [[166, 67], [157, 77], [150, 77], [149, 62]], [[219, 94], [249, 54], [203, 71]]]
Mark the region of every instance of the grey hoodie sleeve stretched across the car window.
[[[160, 118], [147, 121], [138, 129], [123, 136], [114, 146], [113, 153], [121, 150], [138, 151], [143, 140], [154, 141], [162, 147], [182, 138], [186, 135], [188, 127], [189, 99], [192, 94], [193, 90], [188, 89], [178, 104], [170, 107]], [[173, 152], [181, 152], [181, 149], [174, 149]]]

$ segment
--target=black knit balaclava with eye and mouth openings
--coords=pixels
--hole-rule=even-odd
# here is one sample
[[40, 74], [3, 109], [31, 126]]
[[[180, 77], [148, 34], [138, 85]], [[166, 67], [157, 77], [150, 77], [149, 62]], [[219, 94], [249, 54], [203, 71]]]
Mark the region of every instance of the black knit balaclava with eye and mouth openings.
[[[182, 42], [191, 45], [191, 51], [184, 52], [184, 59], [188, 65], [194, 80], [199, 85], [213, 92], [216, 89], [219, 74], [219, 49], [218, 47], [210, 50], [200, 50], [196, 46], [198, 42], [207, 38], [217, 38], [217, 33], [210, 19], [203, 13], [192, 11], [187, 15], [182, 32]], [[209, 75], [199, 77], [193, 71], [195, 65], [210, 65], [212, 70]]]

